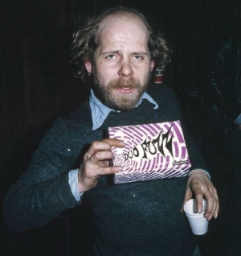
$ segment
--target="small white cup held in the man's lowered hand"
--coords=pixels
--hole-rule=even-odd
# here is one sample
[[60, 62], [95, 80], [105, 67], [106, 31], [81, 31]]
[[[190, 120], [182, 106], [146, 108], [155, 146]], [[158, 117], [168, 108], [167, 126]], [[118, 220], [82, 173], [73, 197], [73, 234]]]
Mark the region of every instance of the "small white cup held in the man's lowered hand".
[[202, 235], [207, 232], [209, 221], [204, 217], [206, 210], [206, 200], [202, 200], [202, 213], [198, 213], [195, 199], [188, 200], [184, 204], [184, 212], [189, 221], [190, 228], [195, 235]]

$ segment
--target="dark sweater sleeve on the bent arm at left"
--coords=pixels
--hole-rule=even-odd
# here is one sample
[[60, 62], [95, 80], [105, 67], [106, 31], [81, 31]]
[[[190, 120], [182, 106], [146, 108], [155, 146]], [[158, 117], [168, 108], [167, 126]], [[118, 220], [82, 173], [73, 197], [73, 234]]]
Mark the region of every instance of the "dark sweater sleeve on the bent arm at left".
[[68, 132], [59, 119], [40, 142], [30, 167], [12, 185], [4, 200], [4, 222], [12, 232], [47, 225], [79, 204], [68, 183], [76, 155], [68, 150]]

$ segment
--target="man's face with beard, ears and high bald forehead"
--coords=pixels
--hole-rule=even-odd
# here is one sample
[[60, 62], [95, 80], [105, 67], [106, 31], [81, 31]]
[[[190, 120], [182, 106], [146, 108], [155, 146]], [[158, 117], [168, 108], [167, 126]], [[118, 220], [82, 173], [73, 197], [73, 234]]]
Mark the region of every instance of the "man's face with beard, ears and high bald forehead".
[[148, 31], [141, 19], [111, 16], [100, 25], [100, 44], [95, 64], [86, 62], [95, 79], [95, 93], [112, 109], [132, 109], [149, 83]]

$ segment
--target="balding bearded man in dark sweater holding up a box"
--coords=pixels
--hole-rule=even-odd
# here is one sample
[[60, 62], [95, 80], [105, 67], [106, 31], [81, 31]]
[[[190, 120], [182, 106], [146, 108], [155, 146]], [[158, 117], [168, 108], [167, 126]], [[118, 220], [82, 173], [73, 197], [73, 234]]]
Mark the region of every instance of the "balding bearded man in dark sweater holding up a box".
[[165, 39], [153, 34], [142, 14], [120, 8], [78, 31], [73, 52], [78, 76], [93, 77], [90, 99], [45, 135], [31, 166], [6, 195], [6, 225], [18, 232], [45, 225], [85, 196], [93, 209], [96, 255], [192, 255], [197, 243], [180, 213], [183, 196], [183, 203], [195, 196], [199, 212], [205, 197], [208, 220], [218, 216], [219, 199], [189, 138], [194, 171], [188, 180], [107, 182], [121, 171], [109, 165], [112, 147], [125, 144], [102, 139], [103, 130], [181, 118], [172, 91], [149, 85], [154, 65], [169, 61]]

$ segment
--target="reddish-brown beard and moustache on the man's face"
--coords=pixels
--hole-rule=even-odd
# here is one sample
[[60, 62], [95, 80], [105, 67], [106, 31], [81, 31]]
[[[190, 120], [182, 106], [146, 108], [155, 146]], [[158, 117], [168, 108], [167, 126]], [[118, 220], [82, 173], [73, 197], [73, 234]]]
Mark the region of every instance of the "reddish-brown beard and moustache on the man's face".
[[[94, 92], [96, 97], [100, 99], [104, 105], [107, 105], [111, 109], [116, 109], [120, 111], [128, 111], [133, 109], [138, 101], [140, 101], [142, 94], [145, 92], [149, 85], [150, 72], [146, 77], [144, 84], [141, 85], [140, 81], [137, 81], [133, 77], [129, 79], [123, 79], [122, 77], [112, 80], [108, 83], [108, 86], [105, 87], [100, 85], [96, 72], [94, 72]], [[116, 89], [123, 88], [134, 89], [133, 93], [118, 93]]]

